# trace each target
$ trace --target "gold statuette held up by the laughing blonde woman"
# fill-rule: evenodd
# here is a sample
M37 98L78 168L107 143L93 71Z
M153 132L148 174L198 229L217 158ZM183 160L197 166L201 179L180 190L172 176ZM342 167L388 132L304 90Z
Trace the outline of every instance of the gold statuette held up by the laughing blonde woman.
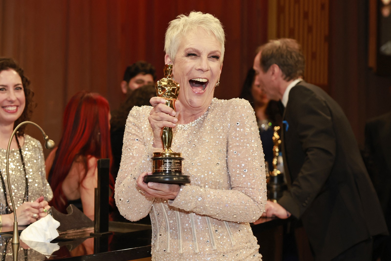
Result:
M157 81L156 96L163 97L166 105L175 110L174 102L178 98L179 83L171 77L172 65L166 64L164 67L164 78ZM163 151L154 152L152 157L152 175L144 177L144 182L160 182L171 184L190 183L190 176L183 175L182 162L184 158L181 153L173 152L172 128L163 127L161 130L161 142Z

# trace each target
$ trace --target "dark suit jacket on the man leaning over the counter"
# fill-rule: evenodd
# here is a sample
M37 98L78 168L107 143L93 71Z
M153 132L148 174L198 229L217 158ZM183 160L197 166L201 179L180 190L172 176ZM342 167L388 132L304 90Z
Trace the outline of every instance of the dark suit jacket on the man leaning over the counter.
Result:
M315 260L330 260L387 227L352 128L321 88L301 81L283 115L288 191L278 201L302 220Z

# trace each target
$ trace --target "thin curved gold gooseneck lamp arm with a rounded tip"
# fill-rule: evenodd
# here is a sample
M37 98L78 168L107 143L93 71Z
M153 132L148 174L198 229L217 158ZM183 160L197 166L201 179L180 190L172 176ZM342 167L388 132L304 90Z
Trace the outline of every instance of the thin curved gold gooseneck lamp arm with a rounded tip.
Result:
M23 121L20 124L18 124L18 126L16 126L15 130L11 134L11 137L9 138L8 147L7 147L6 169L7 169L7 184L8 184L9 197L11 198L12 208L13 208L13 212L14 212L14 232L13 232L13 237L12 237L14 260L18 259L19 233L18 233L18 221L16 220L16 209L15 209L15 204L14 204L14 197L12 196L12 193L11 193L11 183L9 181L9 168L8 168L9 149L11 148L11 142L12 142L12 139L13 139L16 131L18 131L19 127L24 124L32 124L32 125L36 126L41 131L43 138L45 139L45 148L52 149L52 148L54 148L54 145L55 145L54 141L49 139L49 137L48 137L48 135L46 135L45 131L43 131L42 128L39 127L38 124L31 122L31 121ZM15 250L16 250L16 255L15 255ZM15 259L15 256L16 256L16 259Z

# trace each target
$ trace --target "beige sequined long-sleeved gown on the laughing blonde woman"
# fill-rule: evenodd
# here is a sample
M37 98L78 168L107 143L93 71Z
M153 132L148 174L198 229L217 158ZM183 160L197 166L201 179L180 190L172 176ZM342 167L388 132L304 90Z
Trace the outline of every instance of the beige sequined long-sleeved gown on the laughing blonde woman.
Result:
M136 178L151 171L150 106L129 113L115 199L120 213L152 222L153 260L261 260L249 222L266 203L264 154L253 108L243 99L213 99L189 124L178 124L172 150L185 158L191 183L175 200L146 198Z

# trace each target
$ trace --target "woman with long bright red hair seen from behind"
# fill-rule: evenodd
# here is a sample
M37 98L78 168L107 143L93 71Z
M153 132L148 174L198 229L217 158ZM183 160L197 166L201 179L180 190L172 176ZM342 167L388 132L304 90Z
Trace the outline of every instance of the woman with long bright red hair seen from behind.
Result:
M94 219L97 160L112 161L110 118L108 101L97 93L78 92L66 105L61 141L45 162L53 190L49 204L58 211L66 213L72 203ZM111 188L113 184L110 175Z

